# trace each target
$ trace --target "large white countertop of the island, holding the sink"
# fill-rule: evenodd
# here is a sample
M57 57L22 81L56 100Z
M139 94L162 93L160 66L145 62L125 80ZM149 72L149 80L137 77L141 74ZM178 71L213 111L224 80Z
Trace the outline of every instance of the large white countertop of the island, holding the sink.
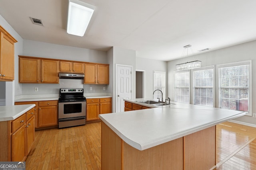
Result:
M175 104L99 117L126 143L144 150L245 115L243 111Z

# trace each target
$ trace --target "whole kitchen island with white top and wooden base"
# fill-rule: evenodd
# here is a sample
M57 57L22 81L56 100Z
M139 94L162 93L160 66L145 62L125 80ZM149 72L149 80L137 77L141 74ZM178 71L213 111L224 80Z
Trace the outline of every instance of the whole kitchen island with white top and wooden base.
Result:
M179 103L100 115L102 170L214 168L216 125L242 115Z

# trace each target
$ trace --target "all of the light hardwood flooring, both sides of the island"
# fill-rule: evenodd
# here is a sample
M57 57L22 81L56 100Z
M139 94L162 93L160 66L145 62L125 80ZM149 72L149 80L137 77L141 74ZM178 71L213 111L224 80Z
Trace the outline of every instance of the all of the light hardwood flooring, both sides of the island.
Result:
M36 131L27 170L100 170L101 123ZM216 127L215 170L256 170L256 128L225 122Z

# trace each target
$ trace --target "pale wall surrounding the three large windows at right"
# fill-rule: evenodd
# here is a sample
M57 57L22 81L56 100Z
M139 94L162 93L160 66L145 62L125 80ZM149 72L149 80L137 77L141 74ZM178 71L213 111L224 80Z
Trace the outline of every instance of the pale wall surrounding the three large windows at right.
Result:
M195 58L196 57L196 58ZM198 59L202 61L201 66L211 66L216 64L225 64L238 61L252 60L252 113L256 113L256 41L235 45L232 47L226 47L223 49L210 51L208 53L202 53L182 59L182 61L194 61ZM174 101L174 71L176 70L176 64L180 60L169 61L168 64L168 96ZM182 63L184 63L182 62ZM215 90L217 92L217 89ZM236 121L242 121L245 123L251 123L256 125L256 118L251 116L242 116Z

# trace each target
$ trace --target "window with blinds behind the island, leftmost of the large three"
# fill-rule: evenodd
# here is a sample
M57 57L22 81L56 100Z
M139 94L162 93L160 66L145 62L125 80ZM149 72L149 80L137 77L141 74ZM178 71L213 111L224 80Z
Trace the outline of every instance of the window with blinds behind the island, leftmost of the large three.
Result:
M175 102L182 102L182 103L190 103L190 78L189 78L189 70L181 71L181 72L175 72L175 87L174 87L174 93L175 93Z

